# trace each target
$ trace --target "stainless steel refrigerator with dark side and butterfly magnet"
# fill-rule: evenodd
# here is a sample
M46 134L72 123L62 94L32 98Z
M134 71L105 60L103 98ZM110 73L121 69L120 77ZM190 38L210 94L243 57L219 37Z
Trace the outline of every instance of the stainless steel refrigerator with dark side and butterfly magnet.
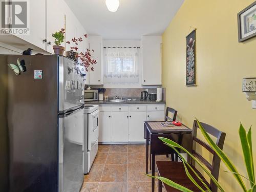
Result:
M0 191L80 190L83 74L63 56L0 55Z

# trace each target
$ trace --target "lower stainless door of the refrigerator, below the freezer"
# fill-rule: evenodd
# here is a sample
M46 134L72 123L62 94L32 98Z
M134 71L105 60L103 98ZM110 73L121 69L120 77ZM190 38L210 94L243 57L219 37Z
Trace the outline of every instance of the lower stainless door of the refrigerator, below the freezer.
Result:
M83 109L59 117L59 192L80 191L83 182Z

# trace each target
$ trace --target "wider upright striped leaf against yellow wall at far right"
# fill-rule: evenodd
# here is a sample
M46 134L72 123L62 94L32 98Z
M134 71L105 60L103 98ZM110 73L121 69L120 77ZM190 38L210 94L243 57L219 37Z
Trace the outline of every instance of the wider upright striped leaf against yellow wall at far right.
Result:
M248 133L248 135L250 137L251 133ZM250 141L247 140L246 131L242 124L240 124L239 136L240 136L241 145L242 145L242 149L243 149L244 162L245 162L247 174L249 176L249 180L254 183L255 179L254 179L254 169L253 169L253 163L252 163L253 157L252 157L252 153L251 153L251 147L249 144L249 142L251 142L251 138L249 139ZM252 183L250 183L250 184L252 187L253 184Z

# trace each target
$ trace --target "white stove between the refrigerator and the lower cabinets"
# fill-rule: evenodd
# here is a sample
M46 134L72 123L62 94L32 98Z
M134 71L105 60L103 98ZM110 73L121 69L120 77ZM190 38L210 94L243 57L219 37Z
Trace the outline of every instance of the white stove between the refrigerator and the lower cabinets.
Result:
M88 174L98 152L99 106L84 105L83 170Z

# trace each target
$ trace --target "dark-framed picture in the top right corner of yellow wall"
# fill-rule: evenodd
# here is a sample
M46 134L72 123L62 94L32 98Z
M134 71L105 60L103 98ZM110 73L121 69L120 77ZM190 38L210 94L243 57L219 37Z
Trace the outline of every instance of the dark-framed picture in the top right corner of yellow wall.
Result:
M256 1L238 13L238 41L256 36Z

